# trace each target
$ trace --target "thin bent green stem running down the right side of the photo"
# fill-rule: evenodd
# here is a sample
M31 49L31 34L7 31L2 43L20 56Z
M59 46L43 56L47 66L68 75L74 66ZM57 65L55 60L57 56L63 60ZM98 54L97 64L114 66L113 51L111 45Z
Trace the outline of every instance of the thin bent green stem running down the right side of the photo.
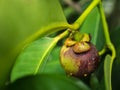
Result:
M103 30L104 30L104 35L105 35L105 39L106 39L107 48L110 49L111 52L112 52L112 58L111 58L111 61L110 61L110 73L109 73L110 74L110 84L109 84L109 86L110 86L110 90L112 90L112 83L111 83L112 64L113 64L113 61L116 57L116 51L115 51L114 45L112 44L112 42L110 40L108 25L107 25L107 21L106 21L106 18L105 18L104 11L103 11L102 2L99 3L99 11L100 11L101 19L102 19ZM104 52L104 49L103 49L102 52ZM107 77L107 76L105 76L105 77ZM106 80L105 80L105 83L107 84ZM109 88L106 87L106 90L108 90L108 89Z

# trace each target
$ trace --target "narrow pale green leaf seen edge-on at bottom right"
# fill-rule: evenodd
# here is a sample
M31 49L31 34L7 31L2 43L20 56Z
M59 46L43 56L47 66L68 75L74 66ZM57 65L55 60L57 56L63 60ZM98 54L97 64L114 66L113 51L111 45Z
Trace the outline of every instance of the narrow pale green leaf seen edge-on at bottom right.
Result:
M105 79L105 88L106 90L112 90L111 84L111 56L107 55L104 61L104 79Z

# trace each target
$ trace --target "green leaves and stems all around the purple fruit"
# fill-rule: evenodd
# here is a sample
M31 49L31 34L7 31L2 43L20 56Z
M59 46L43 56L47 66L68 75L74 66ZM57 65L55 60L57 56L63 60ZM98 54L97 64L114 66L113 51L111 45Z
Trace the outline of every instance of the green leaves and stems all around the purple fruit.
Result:
M61 4L64 2L60 3L58 0L0 1L1 89L119 89L116 81L120 79L120 30L118 28L111 31L109 37L101 0L89 0L85 3L80 17L71 7L63 5L62 9ZM74 17L74 12L77 13L77 19L74 22L67 20ZM89 33L91 42L100 52L98 69L87 77L67 76L60 64L60 49L64 39L70 34L70 29ZM117 56L113 62L115 55Z

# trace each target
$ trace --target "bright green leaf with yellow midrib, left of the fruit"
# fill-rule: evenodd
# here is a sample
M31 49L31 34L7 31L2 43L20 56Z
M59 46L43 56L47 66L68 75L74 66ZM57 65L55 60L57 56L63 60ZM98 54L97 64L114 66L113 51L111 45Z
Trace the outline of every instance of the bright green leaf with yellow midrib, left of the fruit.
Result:
M56 38L43 37L32 42L18 56L11 74L11 81L26 75L43 72L50 51L56 45Z

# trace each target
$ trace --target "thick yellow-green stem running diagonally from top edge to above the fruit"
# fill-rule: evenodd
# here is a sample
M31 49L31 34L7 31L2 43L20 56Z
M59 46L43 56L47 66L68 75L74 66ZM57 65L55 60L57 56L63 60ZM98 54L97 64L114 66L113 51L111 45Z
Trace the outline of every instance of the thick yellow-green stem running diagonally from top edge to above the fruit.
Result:
M73 27L79 29L82 23L85 21L88 14L92 11L94 7L96 7L101 0L93 0L92 3L88 6L88 8L82 13L82 15L74 22Z

